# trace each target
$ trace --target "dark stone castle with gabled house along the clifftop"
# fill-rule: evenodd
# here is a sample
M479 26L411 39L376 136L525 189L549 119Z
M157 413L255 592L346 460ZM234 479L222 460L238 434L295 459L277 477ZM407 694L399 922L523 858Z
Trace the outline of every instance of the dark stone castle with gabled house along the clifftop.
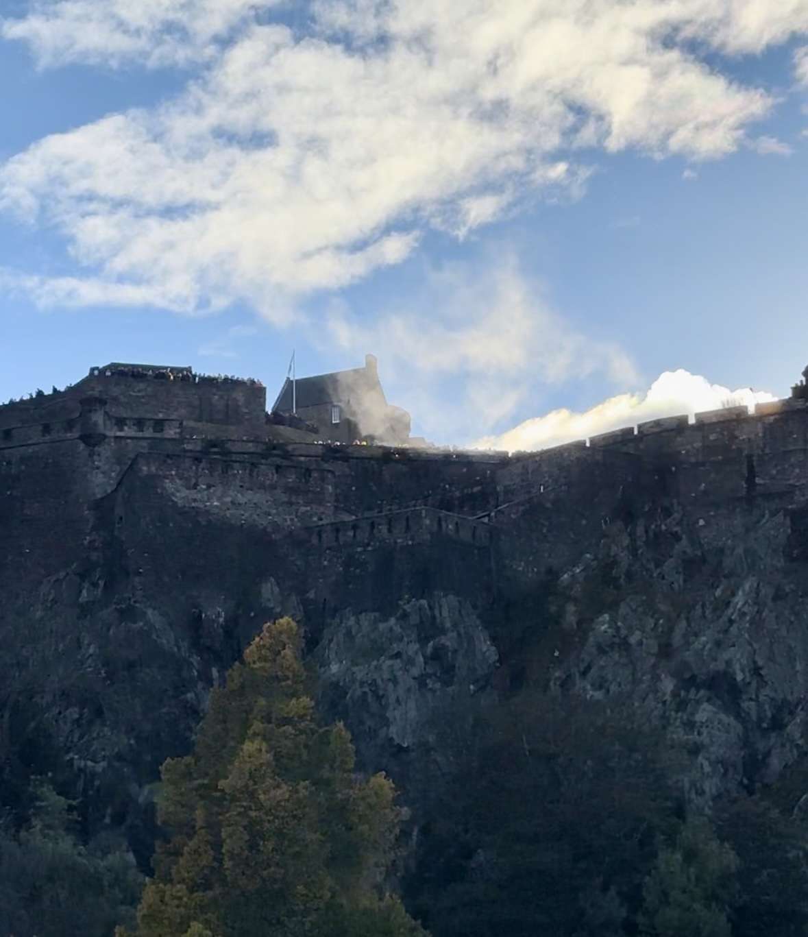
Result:
M409 414L387 405L372 356L365 368L298 383L295 419L288 380L267 414L260 381L120 363L91 368L63 392L0 407L6 550L45 518L56 523L54 502L63 505L58 522L74 523L82 542L99 498L122 497L133 479L150 478L200 516L342 551L385 538L448 537L477 550L496 542L507 554L519 519L538 511L534 553L507 573L529 575L557 558L564 533L554 517L573 504L585 526L600 525L610 514L596 516L599 503L626 510L653 491L697 509L707 526L712 506L727 499L801 505L808 483L808 400L799 386L791 399L752 414L736 407L696 413L692 422L669 417L509 455L340 444L363 435L363 408L375 412L377 439L408 439ZM329 424L344 439L323 441ZM561 502L564 511L549 511ZM11 565L0 553L0 574ZM45 563L39 573L48 572Z

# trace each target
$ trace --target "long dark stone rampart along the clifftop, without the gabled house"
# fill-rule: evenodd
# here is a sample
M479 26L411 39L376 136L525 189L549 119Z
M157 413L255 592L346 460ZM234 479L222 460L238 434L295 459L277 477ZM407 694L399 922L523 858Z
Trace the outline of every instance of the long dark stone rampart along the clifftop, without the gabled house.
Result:
M388 522L406 518L405 532L431 538L450 515L467 519L456 523L476 543L479 525L506 525L531 503L549 510L578 499L585 511L587 492L606 480L688 503L790 497L806 483L802 399L666 417L511 455L289 442L273 438L264 407L257 381L93 368L63 392L0 407L0 481L9 497L36 498L41 469L42 481L69 476L71 491L99 498L139 460L139 472L195 510L276 530L336 523L312 534L323 546L332 535L353 540L354 527L359 543L381 540Z

